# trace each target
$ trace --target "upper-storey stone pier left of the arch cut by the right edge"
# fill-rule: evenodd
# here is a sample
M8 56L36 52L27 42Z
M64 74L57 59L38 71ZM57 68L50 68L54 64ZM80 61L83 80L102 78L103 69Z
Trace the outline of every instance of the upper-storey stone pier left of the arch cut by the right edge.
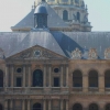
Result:
M105 92L105 75L99 75L99 92Z

